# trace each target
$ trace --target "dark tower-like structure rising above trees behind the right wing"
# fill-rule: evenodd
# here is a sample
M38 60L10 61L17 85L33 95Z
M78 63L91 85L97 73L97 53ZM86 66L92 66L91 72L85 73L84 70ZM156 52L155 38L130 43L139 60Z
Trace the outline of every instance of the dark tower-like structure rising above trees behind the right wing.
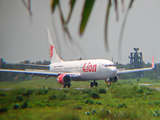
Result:
M129 59L130 59L130 68L142 68L143 67L143 54L142 52L138 52L139 48L133 48L135 52L131 52ZM143 74L142 72L137 73L137 77L141 77Z

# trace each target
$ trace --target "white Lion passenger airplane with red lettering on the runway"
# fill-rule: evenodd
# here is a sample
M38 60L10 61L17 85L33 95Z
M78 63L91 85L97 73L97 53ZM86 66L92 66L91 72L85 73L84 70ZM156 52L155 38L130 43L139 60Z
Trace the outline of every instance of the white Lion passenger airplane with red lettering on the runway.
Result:
M49 42L49 55L50 65L40 65L41 67L48 67L49 70L38 69L0 69L0 72L15 72L31 74L31 76L39 75L45 76L45 80L49 77L57 77L57 81L63 84L63 87L68 88L71 86L72 81L89 81L90 87L98 86L97 80L105 80L110 85L111 82L118 80L118 75L125 73L141 72L153 70L155 68L154 56L152 58L152 66L148 68L119 70L115 64L106 59L88 59L88 60L75 60L75 61L63 61L56 52L55 45L53 43L50 29L47 28L47 38ZM35 65L39 66L39 65Z

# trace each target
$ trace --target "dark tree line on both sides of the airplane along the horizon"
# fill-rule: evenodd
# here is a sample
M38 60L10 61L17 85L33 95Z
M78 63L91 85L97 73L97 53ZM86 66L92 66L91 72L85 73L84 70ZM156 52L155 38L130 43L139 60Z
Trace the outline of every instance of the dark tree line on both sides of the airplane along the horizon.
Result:
M29 64L29 65L27 65ZM48 69L45 67L40 66L32 66L33 65L49 65L50 61L44 60L44 61L36 61L36 62L30 62L30 60L25 60L20 63L7 63L3 60L3 58L0 59L0 68L1 69ZM130 69L130 64L120 64L116 62L116 66L118 69ZM150 67L151 63L143 63L143 67ZM145 71L141 73L128 73L128 74L122 74L119 76L120 79L128 79L128 78L138 78L138 77L145 77L149 79L158 79L160 76L160 63L156 64L156 68L153 71ZM30 75L21 74L21 73L9 73L9 72L0 72L0 81L24 81L24 80L31 80Z

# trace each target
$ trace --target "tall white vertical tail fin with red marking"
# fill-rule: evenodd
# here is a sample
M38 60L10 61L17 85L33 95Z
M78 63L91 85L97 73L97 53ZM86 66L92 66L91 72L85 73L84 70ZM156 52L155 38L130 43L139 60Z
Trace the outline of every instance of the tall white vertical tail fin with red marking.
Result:
M49 28L47 28L47 37L49 42L49 55L50 55L51 64L56 62L63 62L63 60L58 56L56 52L56 48L53 43L52 35Z

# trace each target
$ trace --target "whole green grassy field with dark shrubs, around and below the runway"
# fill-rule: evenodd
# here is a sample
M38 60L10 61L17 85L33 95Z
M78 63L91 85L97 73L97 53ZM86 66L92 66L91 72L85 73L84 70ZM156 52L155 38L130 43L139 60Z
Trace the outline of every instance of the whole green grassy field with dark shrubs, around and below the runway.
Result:
M71 88L53 79L35 78L22 82L1 82L0 88L16 88L0 91L0 120L103 120L103 119L160 119L160 92L138 83L154 83L159 80L142 78L119 80L108 87L98 81L99 87L89 88L90 82L72 82ZM35 89L43 88L45 89ZM73 88L89 88L76 90Z

